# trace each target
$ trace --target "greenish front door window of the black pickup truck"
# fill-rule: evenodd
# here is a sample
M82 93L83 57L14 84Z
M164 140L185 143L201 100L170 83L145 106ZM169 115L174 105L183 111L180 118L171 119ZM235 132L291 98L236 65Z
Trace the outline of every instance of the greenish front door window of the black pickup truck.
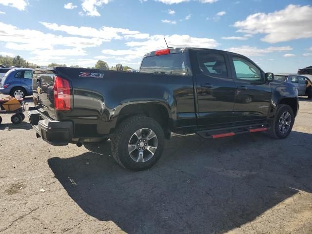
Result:
M250 61L233 57L236 78L249 81L263 81L261 71Z

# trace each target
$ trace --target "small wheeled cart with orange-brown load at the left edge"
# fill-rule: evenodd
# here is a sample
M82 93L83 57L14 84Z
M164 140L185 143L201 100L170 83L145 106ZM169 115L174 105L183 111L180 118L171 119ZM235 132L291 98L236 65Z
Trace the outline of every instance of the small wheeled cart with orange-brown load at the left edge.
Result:
M14 124L19 124L25 119L23 112L26 109L26 103L23 98L0 98L0 115L14 114L11 117L11 122ZM2 122L2 117L0 116L0 124Z

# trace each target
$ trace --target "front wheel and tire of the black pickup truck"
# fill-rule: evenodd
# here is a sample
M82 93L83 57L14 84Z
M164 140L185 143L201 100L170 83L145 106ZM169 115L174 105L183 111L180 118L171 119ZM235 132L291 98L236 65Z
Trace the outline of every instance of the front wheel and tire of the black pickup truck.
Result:
M288 113L289 116L286 113ZM293 124L294 115L292 108L289 105L280 104L277 106L275 117L270 121L268 134L275 139L284 139L292 132Z

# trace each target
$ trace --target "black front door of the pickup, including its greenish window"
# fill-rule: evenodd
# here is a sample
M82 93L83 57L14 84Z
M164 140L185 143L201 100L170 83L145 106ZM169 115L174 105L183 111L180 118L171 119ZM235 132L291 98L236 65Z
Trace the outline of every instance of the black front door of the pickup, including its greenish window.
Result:
M230 55L235 81L234 120L252 123L265 120L271 106L272 90L265 74L250 59Z

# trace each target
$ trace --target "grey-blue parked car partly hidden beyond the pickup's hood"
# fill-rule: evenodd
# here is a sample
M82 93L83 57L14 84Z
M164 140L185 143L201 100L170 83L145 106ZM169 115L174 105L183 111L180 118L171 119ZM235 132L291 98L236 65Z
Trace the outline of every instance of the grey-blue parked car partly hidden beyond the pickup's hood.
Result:
M307 83L312 84L309 77L294 75L294 74L275 74L275 79L292 83L298 89L298 96L308 96L312 98L312 89L307 89Z

